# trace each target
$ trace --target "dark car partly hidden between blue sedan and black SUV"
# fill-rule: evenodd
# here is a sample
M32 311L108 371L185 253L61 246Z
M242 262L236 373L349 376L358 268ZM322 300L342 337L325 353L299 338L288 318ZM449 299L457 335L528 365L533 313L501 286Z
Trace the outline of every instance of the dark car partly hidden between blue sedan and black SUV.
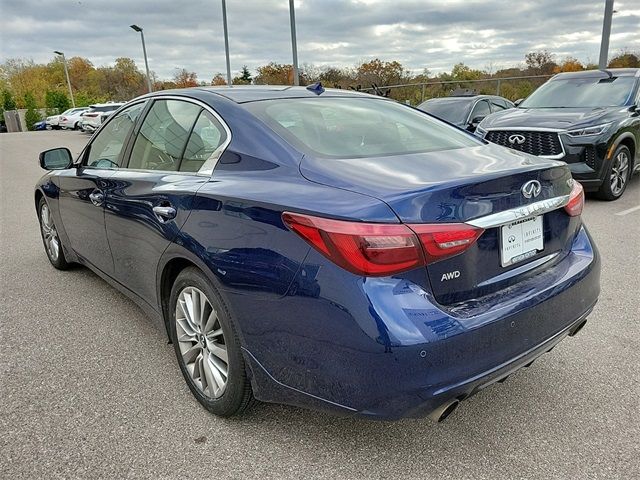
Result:
M475 131L487 115L514 107L506 98L475 94L431 98L418 105L420 110L470 132Z

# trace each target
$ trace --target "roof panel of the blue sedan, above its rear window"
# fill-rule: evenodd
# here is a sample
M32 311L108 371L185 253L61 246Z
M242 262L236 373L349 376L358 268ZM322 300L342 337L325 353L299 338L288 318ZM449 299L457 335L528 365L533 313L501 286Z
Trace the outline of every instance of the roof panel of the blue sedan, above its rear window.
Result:
M197 90L215 93L236 103L257 102L282 98L314 98L318 95L307 87L291 85L234 85L232 87L196 87ZM165 91L166 92L166 91ZM325 88L322 97L375 97L368 93L340 88Z

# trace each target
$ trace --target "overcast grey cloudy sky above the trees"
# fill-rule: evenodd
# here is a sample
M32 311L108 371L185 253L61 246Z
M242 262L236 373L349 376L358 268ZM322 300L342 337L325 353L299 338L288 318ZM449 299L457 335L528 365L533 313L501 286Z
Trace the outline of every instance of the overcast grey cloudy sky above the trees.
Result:
M597 63L604 0L296 0L300 64L353 66L374 57L416 72L457 62L493 69L548 49ZM225 71L220 0L0 0L1 61L48 62L53 50L94 65L132 57L160 78L175 68ZM640 50L640 0L617 0L611 49ZM231 69L291 63L288 0L227 0Z

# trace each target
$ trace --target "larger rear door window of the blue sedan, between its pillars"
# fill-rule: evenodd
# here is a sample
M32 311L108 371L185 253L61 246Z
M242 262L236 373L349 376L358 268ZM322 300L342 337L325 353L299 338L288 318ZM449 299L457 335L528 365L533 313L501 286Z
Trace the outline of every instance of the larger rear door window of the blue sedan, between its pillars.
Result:
M177 171L201 110L180 100L154 102L136 137L128 168Z

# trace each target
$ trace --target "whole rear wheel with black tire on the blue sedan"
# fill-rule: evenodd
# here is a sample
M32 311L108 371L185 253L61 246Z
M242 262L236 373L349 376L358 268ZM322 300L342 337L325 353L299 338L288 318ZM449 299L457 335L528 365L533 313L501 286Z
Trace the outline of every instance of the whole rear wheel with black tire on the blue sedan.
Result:
M188 267L176 278L169 305L171 340L191 393L220 417L242 413L253 393L237 330L220 294L200 270Z

